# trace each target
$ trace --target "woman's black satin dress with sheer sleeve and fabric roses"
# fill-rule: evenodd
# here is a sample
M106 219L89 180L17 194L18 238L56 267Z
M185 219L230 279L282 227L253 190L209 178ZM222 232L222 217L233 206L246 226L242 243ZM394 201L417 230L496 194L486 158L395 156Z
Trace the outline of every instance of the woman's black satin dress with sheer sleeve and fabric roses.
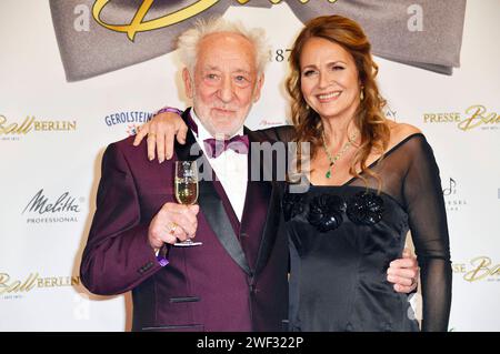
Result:
M291 331L419 331L408 295L387 281L411 231L423 297L422 331L447 331L451 266L439 170L426 138L412 134L339 186L286 186ZM332 170L334 173L334 168Z

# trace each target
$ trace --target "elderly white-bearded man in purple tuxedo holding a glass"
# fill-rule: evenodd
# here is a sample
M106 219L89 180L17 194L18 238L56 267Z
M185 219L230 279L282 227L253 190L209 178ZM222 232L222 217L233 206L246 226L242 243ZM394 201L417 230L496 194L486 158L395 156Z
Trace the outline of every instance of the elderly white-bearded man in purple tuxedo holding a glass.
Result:
M161 164L131 138L104 153L81 279L97 294L132 290L134 331L287 328L288 242L279 227L279 189L248 178L251 169L263 169L252 166L248 150L222 144L218 151L214 139L244 148L287 140L286 128L243 128L263 83L262 38L221 19L184 32L182 77L193 102L182 115L186 143ZM149 144L154 140L150 134ZM199 182L199 205L174 202L178 160L198 160L217 174ZM201 245L176 246L194 234Z

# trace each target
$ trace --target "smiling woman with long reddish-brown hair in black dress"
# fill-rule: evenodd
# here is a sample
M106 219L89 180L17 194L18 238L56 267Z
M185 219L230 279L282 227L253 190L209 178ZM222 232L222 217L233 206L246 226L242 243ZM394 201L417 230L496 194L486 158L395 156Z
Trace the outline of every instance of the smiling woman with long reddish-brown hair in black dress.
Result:
M407 296L386 279L411 230L422 330L447 331L451 267L439 170L420 131L383 117L367 37L349 19L317 18L290 63L296 140L311 144L310 190L283 189L291 330L418 331Z

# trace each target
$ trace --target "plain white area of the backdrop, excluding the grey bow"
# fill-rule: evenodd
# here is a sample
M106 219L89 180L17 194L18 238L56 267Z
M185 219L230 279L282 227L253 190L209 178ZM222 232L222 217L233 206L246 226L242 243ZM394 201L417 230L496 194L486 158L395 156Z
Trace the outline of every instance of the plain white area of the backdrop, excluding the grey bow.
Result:
M377 58L391 114L423 130L438 159L443 190L450 188L450 179L454 182L446 191L454 267L453 331L500 330L500 119L463 131L460 122L426 122L424 114L458 112L463 121L473 105L500 114L499 14L496 0L468 2L461 67L451 77ZM290 48L302 26L284 3L271 9L231 7L224 17L263 27L274 58L276 50ZM76 122L73 130L32 129L26 134L0 130L0 331L130 328L130 297L88 294L78 284L79 262L94 211L103 149L133 128L108 127L106 117L152 112L166 104L184 107L178 94L176 53L67 82L49 6L34 0L1 1L0 48L3 130L21 125L27 117L60 127ZM270 63L250 128L284 122L286 72L286 61ZM24 211L40 190L51 203L68 193L73 210ZM477 274L486 276L470 280L478 257L490 262ZM24 284L30 279L32 286Z

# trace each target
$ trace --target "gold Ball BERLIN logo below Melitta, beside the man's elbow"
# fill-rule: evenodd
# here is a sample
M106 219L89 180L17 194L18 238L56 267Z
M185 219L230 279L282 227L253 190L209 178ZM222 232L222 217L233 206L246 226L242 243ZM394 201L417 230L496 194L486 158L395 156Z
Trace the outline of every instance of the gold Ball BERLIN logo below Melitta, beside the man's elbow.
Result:
M22 299L24 294L37 289L53 289L80 285L80 276L40 276L30 273L16 279L9 273L0 271L0 300Z

